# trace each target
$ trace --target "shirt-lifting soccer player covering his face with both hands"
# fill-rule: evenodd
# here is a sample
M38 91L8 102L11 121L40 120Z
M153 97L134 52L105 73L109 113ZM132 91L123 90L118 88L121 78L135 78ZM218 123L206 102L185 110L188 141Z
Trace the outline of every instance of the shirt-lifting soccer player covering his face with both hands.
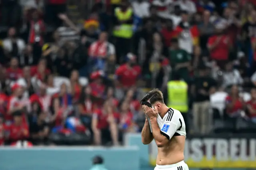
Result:
M180 111L164 104L163 94L158 89L149 91L141 100L146 122L141 132L142 143L154 139L158 146L154 170L188 170L184 162L186 125Z

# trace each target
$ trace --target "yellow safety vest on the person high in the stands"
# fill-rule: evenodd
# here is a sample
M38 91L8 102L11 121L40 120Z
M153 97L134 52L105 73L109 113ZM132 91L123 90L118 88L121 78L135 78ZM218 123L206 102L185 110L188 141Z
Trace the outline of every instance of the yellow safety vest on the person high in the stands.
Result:
M122 12L120 8L116 8L115 15L119 21L128 20L132 17L132 8L129 8L126 12ZM113 35L120 38L131 38L132 24L121 24L120 26L116 26Z

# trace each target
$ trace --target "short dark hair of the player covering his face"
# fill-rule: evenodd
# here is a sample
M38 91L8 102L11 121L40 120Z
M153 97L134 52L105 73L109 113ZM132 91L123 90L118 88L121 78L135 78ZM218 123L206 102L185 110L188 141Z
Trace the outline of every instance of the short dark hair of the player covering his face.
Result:
M140 101L140 103L142 102L146 102L149 101L149 103L151 105L153 105L154 103L156 103L157 101L164 103L164 97L163 97L163 93L159 90L159 89L153 89L151 91L149 91Z

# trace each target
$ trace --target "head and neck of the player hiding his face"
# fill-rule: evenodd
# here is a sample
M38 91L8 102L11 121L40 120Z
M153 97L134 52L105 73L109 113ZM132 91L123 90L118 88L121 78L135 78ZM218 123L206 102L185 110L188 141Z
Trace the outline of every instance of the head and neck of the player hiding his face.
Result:
M145 102L150 103L155 110L157 109L159 115L165 114L169 109L164 104L163 93L159 89L149 91L140 101L142 105Z

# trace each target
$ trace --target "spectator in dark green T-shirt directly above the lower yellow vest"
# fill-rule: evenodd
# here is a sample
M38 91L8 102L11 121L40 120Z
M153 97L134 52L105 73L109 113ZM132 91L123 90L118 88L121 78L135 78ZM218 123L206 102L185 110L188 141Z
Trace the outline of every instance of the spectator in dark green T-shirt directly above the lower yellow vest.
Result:
M184 81L189 81L188 67L190 66L191 56L186 50L179 48L178 39L176 38L171 40L169 60L172 67L170 79L172 80L173 75L178 73Z

